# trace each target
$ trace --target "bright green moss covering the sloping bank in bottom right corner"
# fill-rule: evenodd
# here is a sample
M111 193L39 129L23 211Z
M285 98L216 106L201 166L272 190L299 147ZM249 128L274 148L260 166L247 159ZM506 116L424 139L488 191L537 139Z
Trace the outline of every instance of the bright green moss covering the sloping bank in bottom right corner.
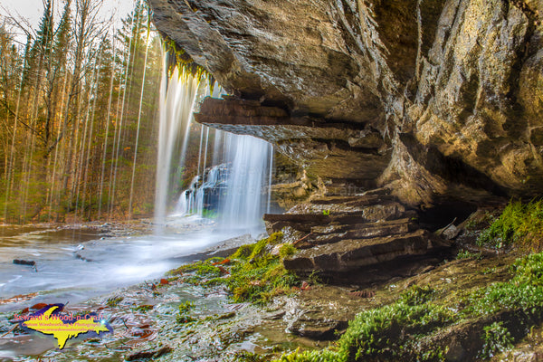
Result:
M442 361L445 359L446 347L433 346L432 350L428 350L419 341L425 336L433 336L433 333L445 326L502 310L522 310L536 317L532 319L534 322L543 318L543 253L517 260L511 266L510 281L469 292L461 302L460 311L456 311L453 306L439 305L436 300L437 293L432 288L415 285L403 292L394 303L359 313L334 346L320 351L296 351L279 360ZM507 350L513 343L510 332L500 323L483 326L481 336L481 358Z

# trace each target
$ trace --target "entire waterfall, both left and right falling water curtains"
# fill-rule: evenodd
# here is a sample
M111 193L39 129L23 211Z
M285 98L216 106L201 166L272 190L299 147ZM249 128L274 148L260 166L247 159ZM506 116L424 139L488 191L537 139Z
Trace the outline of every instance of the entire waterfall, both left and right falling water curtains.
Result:
M159 150L157 164L157 197L155 217L164 224L167 216L167 198L175 190L170 186L173 155L179 158L178 169L185 169L189 145L192 112L195 100L212 95L218 98L222 90L209 84L201 87L199 81L183 74L180 81L177 71L167 83L163 76L160 99ZM271 144L252 136L235 135L202 126L196 149L197 174L186 190L182 191L171 217L191 217L191 221L214 219L222 230L237 233L262 231L262 214L269 210L273 152ZM195 137L195 135L193 135ZM210 152L213 148L213 155ZM208 159L212 158L212 160Z

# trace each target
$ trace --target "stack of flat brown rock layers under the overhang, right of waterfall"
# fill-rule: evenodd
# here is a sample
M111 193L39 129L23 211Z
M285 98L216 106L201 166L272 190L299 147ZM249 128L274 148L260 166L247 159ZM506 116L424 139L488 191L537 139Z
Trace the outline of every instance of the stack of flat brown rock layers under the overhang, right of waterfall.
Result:
M319 196L286 214L266 214L268 233L300 249L283 260L288 270L364 285L424 270L441 262L451 243L422 229L417 214L388 189L362 195Z

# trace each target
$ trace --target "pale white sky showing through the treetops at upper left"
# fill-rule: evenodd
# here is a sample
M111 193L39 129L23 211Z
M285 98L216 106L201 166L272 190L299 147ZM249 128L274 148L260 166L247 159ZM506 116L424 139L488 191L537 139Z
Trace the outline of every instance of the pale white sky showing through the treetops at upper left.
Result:
M73 2L72 2L73 3ZM135 4L134 0L103 0L103 7L101 13L104 18L109 17L110 14L116 14L118 19L123 18L126 14L132 10ZM55 18L60 18L60 12L62 10L63 1L54 0ZM43 14L43 2L42 0L1 0L0 2L0 14L12 14L14 16L20 15L24 19L28 20L35 29L40 23L40 18ZM23 37L23 39L25 39Z

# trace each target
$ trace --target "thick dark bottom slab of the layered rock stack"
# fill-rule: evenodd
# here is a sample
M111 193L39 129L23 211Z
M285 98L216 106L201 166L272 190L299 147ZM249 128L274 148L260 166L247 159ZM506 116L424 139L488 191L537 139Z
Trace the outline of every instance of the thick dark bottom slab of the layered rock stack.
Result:
M287 270L300 273L357 271L360 268L390 262L405 256L423 255L446 242L425 230L371 239L345 239L338 243L304 249L283 263Z

